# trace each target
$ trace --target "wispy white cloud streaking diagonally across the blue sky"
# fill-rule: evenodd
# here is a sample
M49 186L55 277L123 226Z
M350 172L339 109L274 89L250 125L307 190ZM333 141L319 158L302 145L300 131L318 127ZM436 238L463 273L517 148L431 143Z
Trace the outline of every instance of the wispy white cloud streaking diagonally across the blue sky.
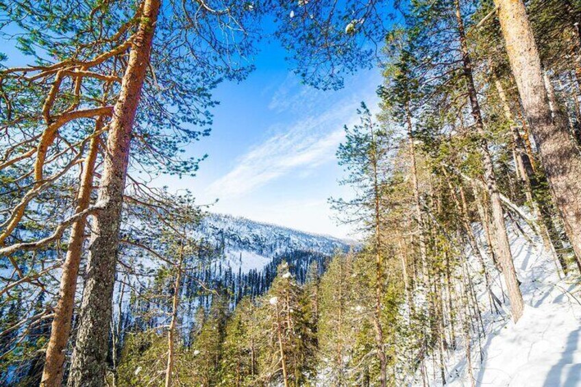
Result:
M297 86L286 79L275 91L269 108L295 110L302 105L306 118L279 127L270 138L249 149L230 172L210 185L211 195L221 199L240 197L273 179L289 173L308 176L317 166L334 161L336 149L344 138L343 125L352 125L357 119L360 101L376 98L375 84L338 101L333 101L328 94L320 95L323 92ZM316 94L319 102L308 103L313 96L305 90Z

